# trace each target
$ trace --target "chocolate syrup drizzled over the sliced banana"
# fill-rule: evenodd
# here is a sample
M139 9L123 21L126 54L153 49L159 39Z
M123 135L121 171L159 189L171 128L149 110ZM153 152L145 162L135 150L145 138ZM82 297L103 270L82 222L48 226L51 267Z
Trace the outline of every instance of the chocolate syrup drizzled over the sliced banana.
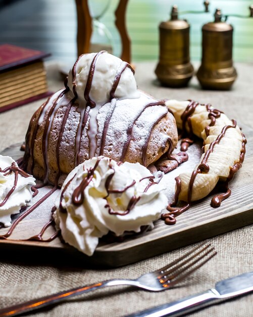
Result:
M183 114L181 115L181 119L183 122L183 132L186 131L185 124L187 122L189 130L190 130L190 132L189 132L190 135L193 134L192 126L191 126L191 122L190 122L190 116L194 113L197 105L198 105L198 103L191 101L189 103L189 105L186 107ZM204 106L206 106L206 109L209 112L208 117L211 120L210 124L205 128L206 135L209 136L210 135L210 127L215 125L216 118L220 117L221 113L223 113L223 112L219 111L217 109L211 109L210 104L207 104ZM174 202L172 204L168 205L167 210L169 212L164 213L161 217L163 220L165 220L166 224L169 224L169 225L175 224L176 223L175 217L179 216L184 211L186 211L190 208L194 180L195 180L197 174L209 172L209 165L208 165L209 156L214 151L215 145L220 143L221 139L225 136L226 131L230 128L236 128L236 121L235 120L232 120L232 125L227 125L227 126L223 127L221 133L217 136L216 140L214 140L210 144L208 150L206 151L206 153L203 157L203 160L201 160L198 167L192 172L190 182L189 182L189 187L188 187L187 204L185 204L182 207L176 206L178 203L178 198L179 198L179 194L181 191L181 180L179 177L175 178L176 192L174 195ZM245 156L245 144L246 144L246 138L245 138L244 134L242 134L242 148L241 148L239 162L235 163L235 165L232 168L230 168L229 176L228 176L226 182L224 183L224 192L213 197L213 199L211 201L212 207L215 207L215 208L219 207L221 205L221 202L230 196L231 190L228 188L228 185L229 185L229 182L233 179L234 174L241 168L241 165L243 163L244 156Z

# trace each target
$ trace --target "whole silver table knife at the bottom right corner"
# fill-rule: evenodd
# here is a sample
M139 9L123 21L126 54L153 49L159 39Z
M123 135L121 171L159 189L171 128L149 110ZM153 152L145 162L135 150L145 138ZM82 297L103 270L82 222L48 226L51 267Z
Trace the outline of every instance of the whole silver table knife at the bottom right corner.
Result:
M181 316L194 310L253 291L253 272L234 276L215 284L215 288L177 301L143 310L126 317Z

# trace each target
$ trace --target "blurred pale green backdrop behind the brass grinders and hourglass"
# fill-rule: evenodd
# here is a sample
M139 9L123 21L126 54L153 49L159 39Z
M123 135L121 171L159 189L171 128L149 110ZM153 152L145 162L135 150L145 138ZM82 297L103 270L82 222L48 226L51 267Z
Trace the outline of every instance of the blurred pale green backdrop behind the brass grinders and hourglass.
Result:
M91 9L99 11L98 3L104 0L90 1ZM127 10L127 28L132 41L132 58L134 61L157 60L159 55L159 29L161 21L170 18L171 7L176 4L180 11L204 11L203 0L129 0ZM111 10L117 6L118 1L112 0ZM95 6L95 4L97 4ZM241 14L249 15L248 7L251 4L246 0L210 0L210 13L184 14L180 18L187 19L190 24L190 55L192 60L201 59L201 27L214 20L216 8L220 8L225 15ZM101 8L101 7L100 7ZM113 26L110 10L101 19L113 34L116 54L119 54L119 38ZM253 18L241 19L228 18L228 23L234 26L234 50L235 61L253 62Z

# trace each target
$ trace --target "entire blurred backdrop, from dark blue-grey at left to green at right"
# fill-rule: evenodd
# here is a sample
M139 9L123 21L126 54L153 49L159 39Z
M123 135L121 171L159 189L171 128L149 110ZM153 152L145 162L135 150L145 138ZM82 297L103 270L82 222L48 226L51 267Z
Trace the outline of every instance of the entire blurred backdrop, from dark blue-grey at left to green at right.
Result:
M108 28L114 54L119 56L120 38L114 26L114 11L118 1L89 0L89 6L92 15L96 16L109 3L108 10L100 22ZM161 21L169 19L174 4L178 5L179 11L204 11L203 0L129 0L127 28L132 41L133 61L158 60L158 26ZM248 0L210 0L210 13L182 15L191 26L191 60L201 59L201 26L213 21L216 8L222 9L224 14L248 15L250 4ZM228 22L234 26L233 59L253 62L253 18L231 17ZM10 43L50 52L52 59L70 64L76 59L74 0L0 0L0 27L0 44ZM97 42L96 37L100 37L99 32L94 32L94 42Z

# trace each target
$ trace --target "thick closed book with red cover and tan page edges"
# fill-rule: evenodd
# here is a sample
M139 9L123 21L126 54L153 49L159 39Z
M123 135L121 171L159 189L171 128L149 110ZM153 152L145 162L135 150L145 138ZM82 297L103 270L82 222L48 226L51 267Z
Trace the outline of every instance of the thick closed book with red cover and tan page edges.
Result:
M46 97L46 72L40 51L0 45L0 112Z

